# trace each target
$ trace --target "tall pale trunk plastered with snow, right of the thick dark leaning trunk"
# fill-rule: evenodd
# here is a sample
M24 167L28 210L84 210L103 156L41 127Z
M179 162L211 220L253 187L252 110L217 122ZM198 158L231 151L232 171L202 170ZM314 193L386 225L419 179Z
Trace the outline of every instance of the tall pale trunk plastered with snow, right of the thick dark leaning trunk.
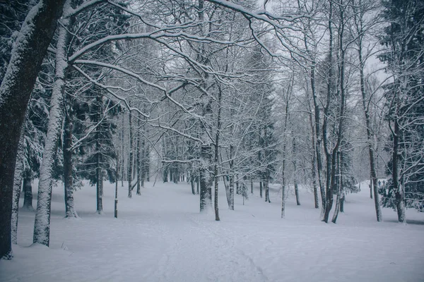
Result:
M65 8L69 9L69 0ZM42 154L40 167L40 181L38 183L37 213L35 214L33 243L49 246L50 240L50 207L52 204L53 164L57 154L57 139L61 130L61 121L64 108L64 90L66 84L66 51L69 44L69 18L62 18L59 25L59 36L56 47L56 71L50 100L49 123L47 137Z

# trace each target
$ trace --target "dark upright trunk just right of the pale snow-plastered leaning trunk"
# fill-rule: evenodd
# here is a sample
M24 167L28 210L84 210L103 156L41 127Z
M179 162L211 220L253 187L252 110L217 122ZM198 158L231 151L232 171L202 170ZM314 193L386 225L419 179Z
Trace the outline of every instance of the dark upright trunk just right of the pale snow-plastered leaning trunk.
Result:
M72 178L72 117L71 109L65 116L65 132L64 132L64 189L65 189L65 217L78 218L75 211L75 204L73 203L73 178Z

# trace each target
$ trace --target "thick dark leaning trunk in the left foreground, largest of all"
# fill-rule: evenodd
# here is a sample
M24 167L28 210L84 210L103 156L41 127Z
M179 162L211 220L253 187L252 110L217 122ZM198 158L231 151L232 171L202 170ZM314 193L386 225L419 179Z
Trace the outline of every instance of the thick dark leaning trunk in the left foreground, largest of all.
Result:
M33 7L22 25L0 86L0 258L11 259L11 207L20 128L64 0Z

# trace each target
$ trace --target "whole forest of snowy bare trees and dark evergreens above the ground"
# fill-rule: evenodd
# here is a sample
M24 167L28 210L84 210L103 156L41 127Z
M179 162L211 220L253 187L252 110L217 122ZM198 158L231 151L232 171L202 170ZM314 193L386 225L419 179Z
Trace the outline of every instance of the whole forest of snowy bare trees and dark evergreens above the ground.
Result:
M282 219L292 191L329 224L360 190L374 221L424 212L423 1L11 0L0 14L4 259L20 197L49 246L52 190L78 218L85 181L97 214L114 183L115 217L118 189L135 200L153 182L188 183L215 221L256 185L263 205L278 187Z

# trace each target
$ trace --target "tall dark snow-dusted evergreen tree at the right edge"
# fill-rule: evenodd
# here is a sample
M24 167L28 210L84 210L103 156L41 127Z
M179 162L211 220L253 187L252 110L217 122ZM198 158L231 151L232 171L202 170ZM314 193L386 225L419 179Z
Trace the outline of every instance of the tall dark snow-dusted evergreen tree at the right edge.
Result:
M391 132L391 178L386 187L394 195L399 222L405 222L406 202L422 209L424 199L424 4L391 0L383 1L383 6L382 16L390 25L380 37L387 49L379 57L393 78L385 87Z

